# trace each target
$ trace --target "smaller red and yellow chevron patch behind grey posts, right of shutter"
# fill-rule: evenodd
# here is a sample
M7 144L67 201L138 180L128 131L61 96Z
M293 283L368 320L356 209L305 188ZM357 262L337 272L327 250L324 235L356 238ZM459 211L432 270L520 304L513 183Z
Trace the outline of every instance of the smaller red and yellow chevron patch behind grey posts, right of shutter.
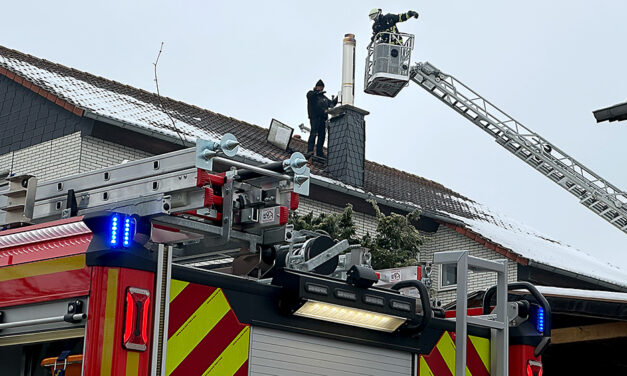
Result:
M454 333L444 332L429 355L420 356L420 376L453 376L455 374ZM466 375L490 375L490 340L468 336Z

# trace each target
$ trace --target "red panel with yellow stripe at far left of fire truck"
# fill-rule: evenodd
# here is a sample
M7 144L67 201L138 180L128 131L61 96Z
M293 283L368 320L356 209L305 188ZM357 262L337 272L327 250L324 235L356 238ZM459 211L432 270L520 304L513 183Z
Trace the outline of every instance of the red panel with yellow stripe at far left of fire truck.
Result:
M87 295L90 270L84 254L0 267L0 307Z

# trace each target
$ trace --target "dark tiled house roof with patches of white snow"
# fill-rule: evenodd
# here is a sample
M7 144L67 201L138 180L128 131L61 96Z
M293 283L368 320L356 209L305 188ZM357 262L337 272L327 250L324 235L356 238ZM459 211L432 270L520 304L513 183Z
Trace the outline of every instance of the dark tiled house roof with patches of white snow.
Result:
M1 46L0 74L79 116L171 140L177 140L180 132L190 143L198 137L217 139L232 133L241 144L243 157L258 162L289 157L286 151L266 141L266 128ZM304 152L307 146L294 138L290 147ZM463 224L532 263L627 290L627 272L620 268L553 240L432 180L373 161L365 163L363 187L335 180L318 164L312 165L311 170L314 184L342 187L349 193L396 203L407 210L419 209L426 216ZM516 257L509 258L520 262Z

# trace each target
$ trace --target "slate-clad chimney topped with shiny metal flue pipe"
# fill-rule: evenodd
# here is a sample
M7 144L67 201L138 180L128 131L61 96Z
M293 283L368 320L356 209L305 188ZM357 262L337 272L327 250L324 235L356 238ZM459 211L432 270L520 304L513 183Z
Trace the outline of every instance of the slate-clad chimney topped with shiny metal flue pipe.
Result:
M326 172L343 183L363 187L368 111L353 105L355 95L355 36L344 37L342 105L329 110Z

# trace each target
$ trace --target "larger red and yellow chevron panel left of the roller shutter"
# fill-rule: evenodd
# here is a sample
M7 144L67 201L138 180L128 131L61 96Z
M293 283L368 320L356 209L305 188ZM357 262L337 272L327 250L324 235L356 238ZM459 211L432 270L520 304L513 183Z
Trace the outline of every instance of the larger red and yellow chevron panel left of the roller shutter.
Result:
M248 375L249 343L222 289L172 280L166 375Z

